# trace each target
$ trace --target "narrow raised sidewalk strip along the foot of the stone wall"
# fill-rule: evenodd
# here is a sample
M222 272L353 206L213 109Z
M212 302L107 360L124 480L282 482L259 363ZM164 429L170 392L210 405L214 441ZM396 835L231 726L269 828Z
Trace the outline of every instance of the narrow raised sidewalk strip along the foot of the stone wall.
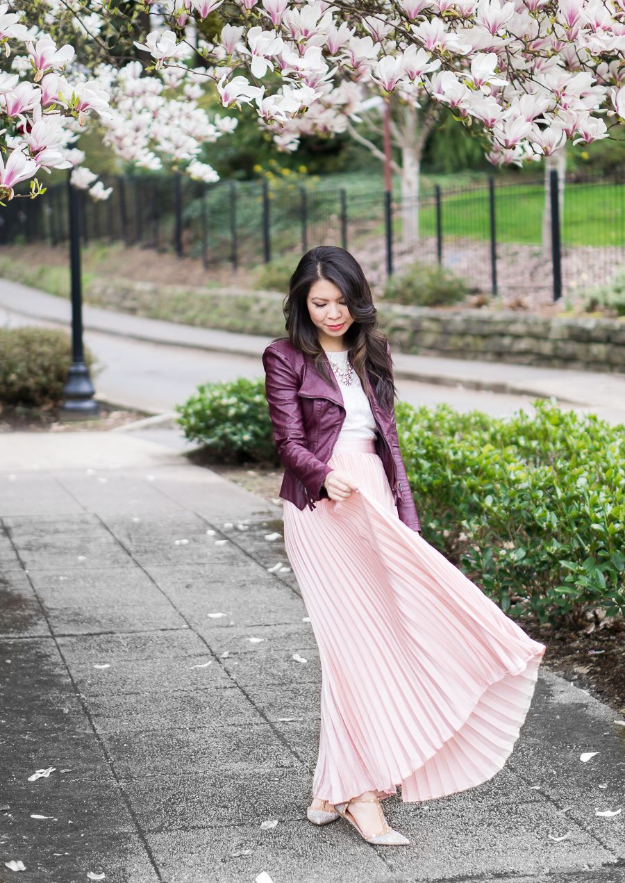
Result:
M70 304L19 283L0 280L0 307L33 319L70 324ZM142 319L94 306L84 307L86 328L139 341L169 344L202 351L260 357L269 337L233 334L213 328L194 328L155 319ZM625 423L625 375L555 368L463 361L394 352L398 379L484 389L519 396L555 397L559 402L607 411Z

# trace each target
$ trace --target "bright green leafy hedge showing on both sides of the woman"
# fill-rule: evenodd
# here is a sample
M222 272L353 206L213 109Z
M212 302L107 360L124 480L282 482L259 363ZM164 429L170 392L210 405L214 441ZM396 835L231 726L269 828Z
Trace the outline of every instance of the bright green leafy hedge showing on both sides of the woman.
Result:
M621 620L625 426L532 404L535 416L510 419L396 405L425 540L510 616ZM177 410L213 456L278 463L264 381L205 384Z

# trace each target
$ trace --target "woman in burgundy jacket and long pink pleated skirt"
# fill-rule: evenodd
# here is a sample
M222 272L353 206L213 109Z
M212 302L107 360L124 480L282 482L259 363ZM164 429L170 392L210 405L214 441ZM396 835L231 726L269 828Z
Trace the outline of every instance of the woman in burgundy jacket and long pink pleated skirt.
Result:
M263 353L285 465L284 544L320 653L320 745L308 819L410 841L380 799L431 800L501 769L545 645L420 535L395 427L388 342L358 262L299 261L288 337Z

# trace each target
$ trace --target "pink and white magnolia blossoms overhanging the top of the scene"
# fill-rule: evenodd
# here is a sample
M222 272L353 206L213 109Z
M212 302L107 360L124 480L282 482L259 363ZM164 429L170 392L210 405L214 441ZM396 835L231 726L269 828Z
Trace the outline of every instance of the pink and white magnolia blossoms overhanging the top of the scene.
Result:
M82 54L56 34L61 11ZM207 90L251 105L283 150L346 131L372 88L408 109L431 102L498 165L609 137L625 118L625 0L31 0L0 4L0 43L5 199L71 164L93 190L72 144L94 117L124 160L214 180L203 146L236 118L209 118Z

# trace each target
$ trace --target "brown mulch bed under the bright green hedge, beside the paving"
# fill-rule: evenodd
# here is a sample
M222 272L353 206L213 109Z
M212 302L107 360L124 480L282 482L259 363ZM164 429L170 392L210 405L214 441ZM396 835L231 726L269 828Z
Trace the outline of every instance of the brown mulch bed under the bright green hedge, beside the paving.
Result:
M253 463L238 466L209 463L200 451L193 453L193 460L246 490L279 502L282 472ZM545 668L613 708L615 716L625 717L625 630L601 628L600 624L590 633L588 627L586 630L554 629L539 623L535 615L527 615L518 623L531 638L546 645ZM622 624L625 629L625 623Z

